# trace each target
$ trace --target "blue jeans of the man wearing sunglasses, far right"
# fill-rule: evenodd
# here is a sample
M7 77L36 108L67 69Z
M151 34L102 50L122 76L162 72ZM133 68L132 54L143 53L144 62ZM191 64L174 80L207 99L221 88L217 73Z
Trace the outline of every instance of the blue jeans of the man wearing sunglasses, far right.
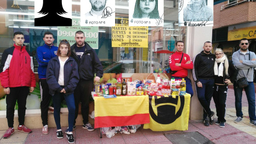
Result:
M244 89L247 100L248 100L248 105L249 105L248 111L249 111L250 121L256 121L254 84L253 82L248 82L248 84L249 85L247 87L240 88L238 87L237 82L234 82L234 91L235 91L235 98L236 98L236 116L243 117L242 95L243 95L243 89Z

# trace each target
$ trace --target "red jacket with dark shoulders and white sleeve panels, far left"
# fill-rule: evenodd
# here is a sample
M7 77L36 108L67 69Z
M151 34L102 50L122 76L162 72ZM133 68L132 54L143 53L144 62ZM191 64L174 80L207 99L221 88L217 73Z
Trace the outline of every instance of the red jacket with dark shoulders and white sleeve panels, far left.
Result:
M0 65L0 79L3 87L36 87L33 57L26 46L13 45L4 50Z

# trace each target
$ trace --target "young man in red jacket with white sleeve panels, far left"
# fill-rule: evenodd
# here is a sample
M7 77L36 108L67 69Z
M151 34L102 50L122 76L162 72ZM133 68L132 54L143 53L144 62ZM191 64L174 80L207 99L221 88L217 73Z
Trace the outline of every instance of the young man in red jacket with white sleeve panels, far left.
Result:
M32 132L24 125L24 121L28 93L33 92L36 87L33 55L23 45L25 41L24 35L17 31L13 37L15 43L9 49L4 50L0 65L0 80L6 93L6 118L9 126L9 129L4 134L4 139L10 138L14 133L13 119L16 101L19 107L18 131L24 133Z

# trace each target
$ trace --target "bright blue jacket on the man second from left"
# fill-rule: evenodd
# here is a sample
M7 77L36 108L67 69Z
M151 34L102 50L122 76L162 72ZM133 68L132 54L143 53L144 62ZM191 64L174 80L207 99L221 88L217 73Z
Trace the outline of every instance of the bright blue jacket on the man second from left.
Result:
M44 44L43 46L37 47L36 60L38 62L38 77L46 78L46 69L48 62L56 57L58 47L54 45Z

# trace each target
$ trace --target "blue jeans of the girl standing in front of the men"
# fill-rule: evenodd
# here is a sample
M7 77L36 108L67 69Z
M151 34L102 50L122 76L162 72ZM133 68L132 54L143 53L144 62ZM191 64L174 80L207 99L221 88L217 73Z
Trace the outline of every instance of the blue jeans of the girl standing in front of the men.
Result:
M61 95L64 95L64 98L66 100L67 106L68 106L68 131L73 131L73 124L75 120L75 99L74 94L65 94L60 92L55 92L55 94L52 97L53 105L54 105L54 120L55 124L57 126L57 130L61 129L60 126L60 106L61 106Z

